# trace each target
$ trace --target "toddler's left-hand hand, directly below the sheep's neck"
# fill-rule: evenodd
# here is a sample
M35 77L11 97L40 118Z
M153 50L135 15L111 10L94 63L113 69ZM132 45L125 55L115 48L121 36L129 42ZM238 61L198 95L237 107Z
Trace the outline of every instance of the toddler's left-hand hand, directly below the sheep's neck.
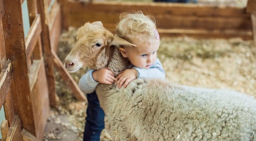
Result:
M117 80L113 72L107 68L95 70L92 75L95 81L98 81L104 84L112 84Z

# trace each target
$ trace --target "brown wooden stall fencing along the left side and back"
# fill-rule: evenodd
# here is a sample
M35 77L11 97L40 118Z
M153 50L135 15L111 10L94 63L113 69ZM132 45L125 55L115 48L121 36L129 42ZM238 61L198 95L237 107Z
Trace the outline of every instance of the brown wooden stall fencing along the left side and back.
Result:
M54 68L74 97L86 101L56 50L62 29L87 21L114 32L120 13L141 10L162 36L240 37L256 42L256 1L247 7L193 4L0 0L0 140L42 140L50 105L57 104Z

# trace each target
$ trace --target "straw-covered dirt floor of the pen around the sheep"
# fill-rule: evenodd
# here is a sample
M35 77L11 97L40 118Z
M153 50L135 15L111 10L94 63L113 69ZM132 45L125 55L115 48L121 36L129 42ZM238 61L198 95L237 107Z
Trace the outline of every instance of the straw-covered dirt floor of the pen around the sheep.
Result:
M76 31L70 27L61 34L57 54L62 61L75 43ZM256 97L256 46L252 41L161 37L158 58L166 79L174 83L231 89ZM73 73L73 78L78 82L86 70ZM57 71L55 86L59 103L51 108L44 140L82 140L87 103L74 98ZM111 137L103 130L101 140Z

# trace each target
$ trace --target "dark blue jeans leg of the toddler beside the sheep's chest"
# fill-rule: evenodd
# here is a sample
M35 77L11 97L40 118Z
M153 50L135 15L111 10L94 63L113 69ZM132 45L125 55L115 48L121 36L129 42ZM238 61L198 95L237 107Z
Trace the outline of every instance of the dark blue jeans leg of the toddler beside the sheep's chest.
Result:
M104 111L99 105L96 92L87 94L88 107L86 126L84 127L84 141L98 141L101 131L104 129Z

